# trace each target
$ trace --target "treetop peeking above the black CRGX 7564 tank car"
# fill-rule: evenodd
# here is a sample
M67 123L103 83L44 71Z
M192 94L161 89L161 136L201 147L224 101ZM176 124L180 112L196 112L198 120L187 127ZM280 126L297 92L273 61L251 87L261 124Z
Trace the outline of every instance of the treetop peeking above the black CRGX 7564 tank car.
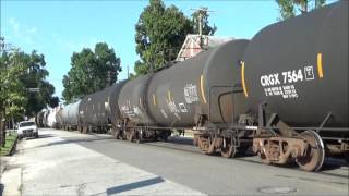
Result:
M325 5L326 0L276 0L280 9L279 21L303 14Z

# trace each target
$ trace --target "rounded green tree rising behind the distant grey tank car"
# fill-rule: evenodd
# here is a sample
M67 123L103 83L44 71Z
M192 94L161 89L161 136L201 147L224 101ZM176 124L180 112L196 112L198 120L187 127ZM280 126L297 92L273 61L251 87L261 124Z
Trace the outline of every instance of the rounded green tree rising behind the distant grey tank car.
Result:
M71 65L62 81L62 96L67 103L112 85L121 72L120 58L105 42L96 44L94 51L84 48L81 52L74 52Z

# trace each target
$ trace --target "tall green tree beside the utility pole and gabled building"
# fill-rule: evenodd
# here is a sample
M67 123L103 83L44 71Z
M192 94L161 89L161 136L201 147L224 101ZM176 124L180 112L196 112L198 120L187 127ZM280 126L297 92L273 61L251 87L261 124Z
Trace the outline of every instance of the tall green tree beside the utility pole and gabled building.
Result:
M193 17L197 15L193 14ZM216 27L208 26L204 16L203 32L213 35ZM188 34L196 32L196 21L186 17L177 7L165 7L161 0L149 0L135 25L136 52L135 74L146 74L173 61Z

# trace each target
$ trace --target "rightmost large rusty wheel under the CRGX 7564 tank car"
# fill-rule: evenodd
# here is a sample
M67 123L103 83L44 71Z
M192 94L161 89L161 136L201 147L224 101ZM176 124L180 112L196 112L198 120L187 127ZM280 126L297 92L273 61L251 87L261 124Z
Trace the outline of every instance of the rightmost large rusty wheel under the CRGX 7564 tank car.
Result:
M302 132L300 137L306 140L309 148L304 156L296 159L297 164L305 171L318 171L325 160L325 148L322 138L311 130Z

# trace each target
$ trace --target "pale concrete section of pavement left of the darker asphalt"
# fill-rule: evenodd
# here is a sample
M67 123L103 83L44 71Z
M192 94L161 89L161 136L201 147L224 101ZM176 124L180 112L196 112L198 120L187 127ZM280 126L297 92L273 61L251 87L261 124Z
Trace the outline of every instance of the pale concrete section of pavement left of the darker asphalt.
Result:
M19 143L2 175L4 195L203 195L76 144L91 135L40 133Z

